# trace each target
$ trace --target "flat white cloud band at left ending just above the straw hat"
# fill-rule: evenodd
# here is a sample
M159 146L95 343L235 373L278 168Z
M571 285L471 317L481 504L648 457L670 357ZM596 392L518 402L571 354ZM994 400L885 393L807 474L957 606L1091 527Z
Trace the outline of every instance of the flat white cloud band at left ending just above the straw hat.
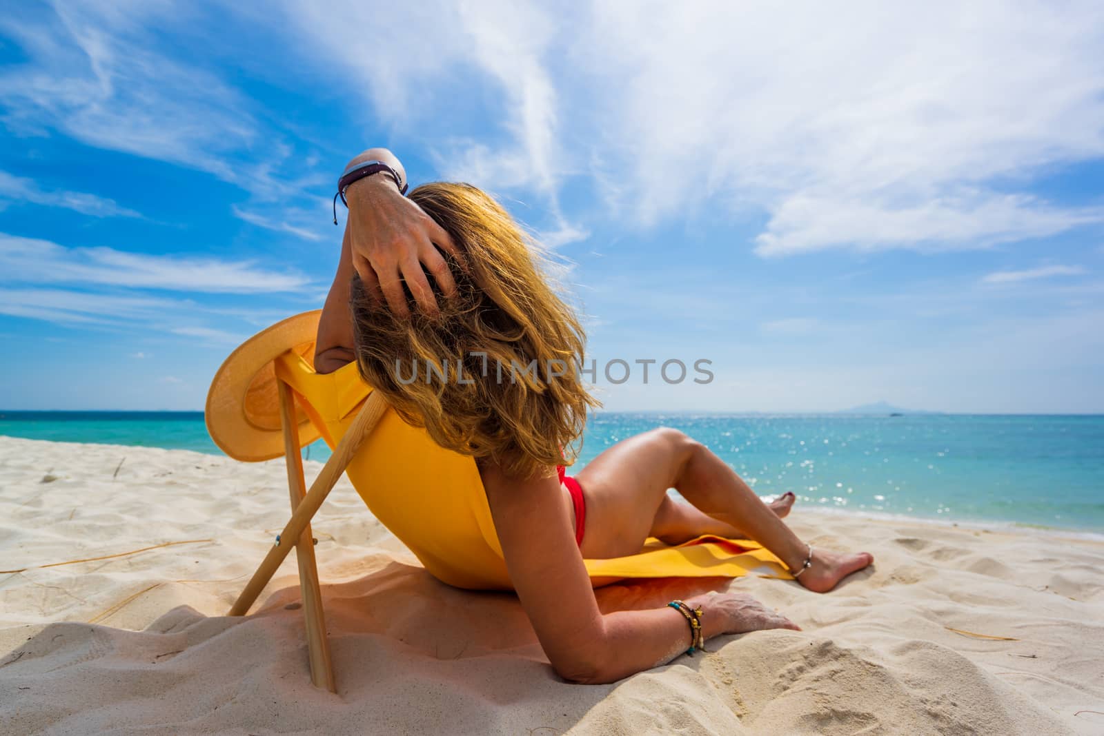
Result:
M253 261L150 256L113 248L66 248L0 234L0 271L10 282L78 283L206 293L294 292L310 284L295 272Z

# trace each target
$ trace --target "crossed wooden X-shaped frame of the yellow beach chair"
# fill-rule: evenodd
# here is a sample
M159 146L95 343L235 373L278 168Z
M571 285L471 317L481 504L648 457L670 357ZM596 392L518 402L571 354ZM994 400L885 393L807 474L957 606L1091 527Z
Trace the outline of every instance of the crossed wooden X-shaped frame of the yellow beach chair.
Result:
M368 396L363 407L353 420L330 459L305 491L302 475L302 453L299 446L299 423L295 411L295 391L277 379L279 391L280 425L284 432L284 455L287 463L287 487L291 499L291 518L284 531L276 537L276 543L265 555L261 566L253 573L245 589L237 596L230 616L244 616L261 595L265 585L276 574L284 559L296 550L299 563L299 589L302 594L302 615L307 630L307 651L310 658L310 681L316 688L337 692L333 679L333 663L330 646L326 639L326 616L322 611L322 595L318 582L318 565L315 561L315 541L310 534L310 520L321 508L333 486L341 478L357 451L379 423L386 410L386 402L375 391Z

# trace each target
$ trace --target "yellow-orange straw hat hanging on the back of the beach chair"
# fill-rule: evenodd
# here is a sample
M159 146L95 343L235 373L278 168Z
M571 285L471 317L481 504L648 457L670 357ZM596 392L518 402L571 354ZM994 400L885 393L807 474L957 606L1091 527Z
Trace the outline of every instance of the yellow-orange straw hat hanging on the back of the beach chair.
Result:
M288 350L312 361L321 314L321 310L304 312L257 333L231 353L214 375L204 419L211 439L231 457L256 463L284 454L274 361ZM299 445L305 447L320 433L301 407L296 419Z

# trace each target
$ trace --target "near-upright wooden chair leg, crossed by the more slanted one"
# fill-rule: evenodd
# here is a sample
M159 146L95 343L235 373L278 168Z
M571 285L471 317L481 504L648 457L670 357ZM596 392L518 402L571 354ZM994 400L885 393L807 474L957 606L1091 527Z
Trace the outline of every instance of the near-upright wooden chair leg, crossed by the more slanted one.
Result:
M287 488L291 498L291 513L307 495L302 477L302 448L299 446L299 422L295 412L295 392L284 381L277 381L279 416L284 429L284 458L287 463ZM299 563L299 592L302 597L302 617L306 624L307 652L310 659L310 681L316 688L337 692L330 643L326 638L326 614L322 610L322 592L318 583L315 561L315 540L308 523L295 543Z

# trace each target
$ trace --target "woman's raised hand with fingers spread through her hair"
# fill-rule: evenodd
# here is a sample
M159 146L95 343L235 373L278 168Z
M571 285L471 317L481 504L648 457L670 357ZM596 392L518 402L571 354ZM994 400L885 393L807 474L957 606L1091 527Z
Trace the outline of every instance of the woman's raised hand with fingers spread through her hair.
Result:
M374 174L353 182L346 198L352 266L365 290L385 300L392 312L405 316L410 314L405 283L423 311L437 314L437 300L426 274L433 277L445 296L456 292L442 256L445 251L460 259L448 234L404 197L390 176Z

